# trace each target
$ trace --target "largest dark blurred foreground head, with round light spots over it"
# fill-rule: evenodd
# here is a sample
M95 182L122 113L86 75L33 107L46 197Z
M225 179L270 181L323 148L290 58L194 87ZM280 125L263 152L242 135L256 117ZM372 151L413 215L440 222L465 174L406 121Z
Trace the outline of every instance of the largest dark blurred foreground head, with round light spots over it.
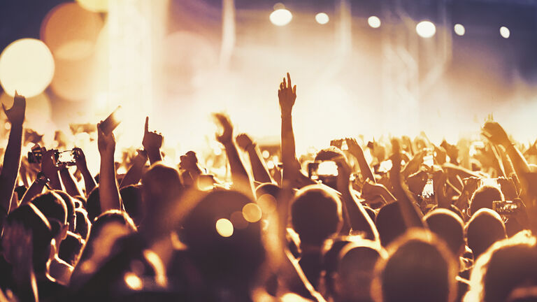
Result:
M243 217L243 209L259 207L234 191L213 191L201 197L178 229L188 254L206 280L250 285L264 261L261 216ZM252 219L255 218L255 219ZM238 227L241 226L241 227Z

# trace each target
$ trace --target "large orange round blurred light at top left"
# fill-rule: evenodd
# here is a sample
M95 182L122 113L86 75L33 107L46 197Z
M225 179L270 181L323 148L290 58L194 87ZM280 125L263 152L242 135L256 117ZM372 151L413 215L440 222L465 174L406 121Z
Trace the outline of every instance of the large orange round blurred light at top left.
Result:
M103 28L98 13L77 3L63 3L50 10L41 23L41 39L57 59L78 60L94 53Z

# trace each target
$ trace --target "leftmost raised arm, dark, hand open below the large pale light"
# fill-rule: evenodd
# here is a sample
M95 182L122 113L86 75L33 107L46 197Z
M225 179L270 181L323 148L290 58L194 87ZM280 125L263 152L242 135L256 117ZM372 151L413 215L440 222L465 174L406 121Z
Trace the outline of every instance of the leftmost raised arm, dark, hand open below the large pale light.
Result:
M19 173L22 123L24 122L24 113L26 111L26 99L15 92L13 107L6 110L6 107L2 104L2 108L11 124L8 146L3 155L3 167L0 173L0 207L1 215L5 218L9 213L11 197L15 189L15 180L17 180L17 174Z

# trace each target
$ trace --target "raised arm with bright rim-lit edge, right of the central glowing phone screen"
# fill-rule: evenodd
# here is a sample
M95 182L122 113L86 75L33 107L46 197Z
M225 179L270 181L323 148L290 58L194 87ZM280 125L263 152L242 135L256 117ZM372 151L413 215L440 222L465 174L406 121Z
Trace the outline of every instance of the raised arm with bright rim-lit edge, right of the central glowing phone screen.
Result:
M363 231L365 238L378 240L378 231L371 217L366 213L364 206L350 191L350 166L347 159L338 157L334 159L338 165L338 191L341 193L343 209L348 213L348 220L352 231Z

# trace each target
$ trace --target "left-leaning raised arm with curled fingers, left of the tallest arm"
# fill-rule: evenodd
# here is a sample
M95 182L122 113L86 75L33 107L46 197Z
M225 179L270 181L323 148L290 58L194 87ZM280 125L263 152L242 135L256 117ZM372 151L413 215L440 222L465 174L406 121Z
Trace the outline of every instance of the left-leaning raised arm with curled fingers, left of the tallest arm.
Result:
M250 181L250 175L244 168L243 161L238 155L237 146L235 145L233 137L233 124L229 120L227 115L222 113L214 113L215 119L222 126L221 135L216 135L217 141L219 141L226 150L227 160L231 167L231 179L233 180L234 187L241 189L241 192L248 192L253 194L252 182ZM253 195L252 195L253 196Z

